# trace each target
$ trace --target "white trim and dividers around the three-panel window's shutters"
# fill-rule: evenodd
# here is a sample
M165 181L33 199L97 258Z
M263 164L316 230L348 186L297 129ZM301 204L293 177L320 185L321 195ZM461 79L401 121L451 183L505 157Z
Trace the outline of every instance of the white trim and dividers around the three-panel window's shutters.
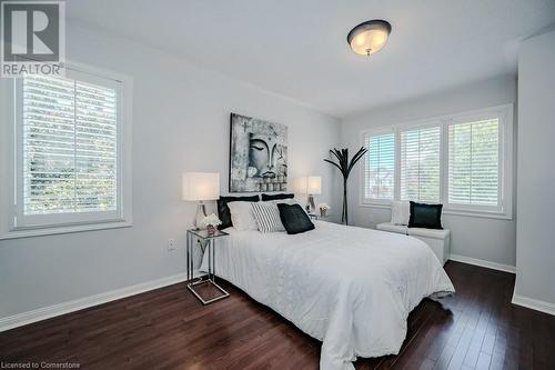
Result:
M448 129L457 123L477 122L496 119L498 122L498 151L497 151L497 202L496 204L476 206L463 203L450 203L450 140ZM367 146L367 138L384 133L395 133L395 176L393 199L366 198L366 167L367 157L361 166L361 191L360 204L362 207L390 208L392 200L401 198L401 132L418 128L430 128L438 126L441 129L440 142L440 202L444 204L444 213L460 214L496 219L513 218L513 104L497 106L456 114L435 117L407 123L389 127L379 127L361 132L361 142ZM415 200L417 201L417 200Z

